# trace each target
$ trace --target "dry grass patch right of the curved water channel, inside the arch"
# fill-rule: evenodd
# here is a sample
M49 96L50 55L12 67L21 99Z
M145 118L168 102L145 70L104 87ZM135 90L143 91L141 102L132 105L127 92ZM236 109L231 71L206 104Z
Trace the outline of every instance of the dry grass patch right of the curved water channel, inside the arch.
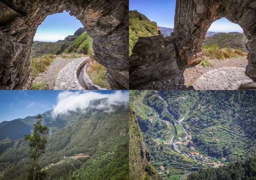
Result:
M89 57L92 60L92 64L90 66L90 70L87 71L90 79L92 79L94 84L97 84L98 86L110 89L110 86L108 84L108 81L106 79L106 68L95 61L93 57L93 50L92 48L88 51Z

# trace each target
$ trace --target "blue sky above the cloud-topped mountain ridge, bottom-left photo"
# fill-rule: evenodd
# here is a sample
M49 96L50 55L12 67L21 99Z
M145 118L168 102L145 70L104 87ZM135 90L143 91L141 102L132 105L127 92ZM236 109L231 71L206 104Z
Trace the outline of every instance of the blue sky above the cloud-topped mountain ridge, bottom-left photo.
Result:
M70 98L68 104L72 104L73 107L80 105L82 101L86 99L81 99L81 94L88 93L88 96L83 96L87 99L94 99L101 96L99 94L92 94L90 92L100 93L100 94L113 94L117 91L113 90L97 90L97 91L58 91L58 90L1 90L0 91L0 122L11 121L17 118L25 118L26 116L38 115L39 113L44 113L47 110L52 110L55 107L68 108L65 107L67 103L61 104L60 102L65 102L65 98ZM121 94L120 94L121 92ZM80 93L80 94L79 94ZM128 91L119 91L117 96L118 99L128 98L126 96ZM59 96L62 95L62 96ZM125 96L125 97L124 97ZM73 98L74 97L74 98ZM72 101L72 99L78 98L79 100Z

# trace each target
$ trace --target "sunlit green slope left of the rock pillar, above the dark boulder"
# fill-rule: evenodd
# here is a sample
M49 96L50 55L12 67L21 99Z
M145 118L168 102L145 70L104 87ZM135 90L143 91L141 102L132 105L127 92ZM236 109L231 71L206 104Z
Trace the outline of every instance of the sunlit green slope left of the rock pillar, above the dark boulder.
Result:
M129 54L139 37L151 37L160 35L157 23L149 20L138 11L129 11Z

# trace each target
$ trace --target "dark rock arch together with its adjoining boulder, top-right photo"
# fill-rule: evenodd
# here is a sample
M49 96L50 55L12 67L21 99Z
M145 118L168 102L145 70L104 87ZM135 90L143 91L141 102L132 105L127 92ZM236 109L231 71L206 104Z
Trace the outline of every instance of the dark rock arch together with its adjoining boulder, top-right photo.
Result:
M254 0L176 0L170 37L141 37L130 59L131 89L184 89L183 72L202 60L202 44L212 22L226 17L249 40L245 74L256 82L256 2ZM155 70L157 69L157 70ZM142 84L142 85L141 85Z

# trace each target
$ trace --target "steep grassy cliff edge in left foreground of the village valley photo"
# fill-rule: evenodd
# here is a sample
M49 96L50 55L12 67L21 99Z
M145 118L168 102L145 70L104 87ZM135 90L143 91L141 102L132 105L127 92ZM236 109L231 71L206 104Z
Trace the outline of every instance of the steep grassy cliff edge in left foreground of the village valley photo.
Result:
M149 163L149 152L143 142L142 132L133 109L130 109L129 123L130 179L161 180L154 167Z

